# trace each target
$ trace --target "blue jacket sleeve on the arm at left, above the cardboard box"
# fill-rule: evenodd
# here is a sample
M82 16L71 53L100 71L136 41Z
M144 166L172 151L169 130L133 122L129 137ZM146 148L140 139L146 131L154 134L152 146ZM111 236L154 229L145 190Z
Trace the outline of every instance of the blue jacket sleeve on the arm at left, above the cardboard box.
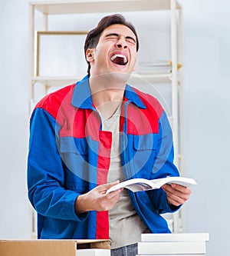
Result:
M28 198L43 216L84 221L87 213L77 215L74 204L77 192L64 188L64 167L58 152L58 124L42 108L31 116L28 152Z

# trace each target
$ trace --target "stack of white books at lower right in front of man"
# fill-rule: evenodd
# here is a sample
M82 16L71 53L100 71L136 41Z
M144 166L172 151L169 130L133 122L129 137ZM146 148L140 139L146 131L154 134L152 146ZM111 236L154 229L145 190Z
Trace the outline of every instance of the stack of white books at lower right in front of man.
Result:
M207 241L208 233L142 234L138 256L201 256L206 253Z

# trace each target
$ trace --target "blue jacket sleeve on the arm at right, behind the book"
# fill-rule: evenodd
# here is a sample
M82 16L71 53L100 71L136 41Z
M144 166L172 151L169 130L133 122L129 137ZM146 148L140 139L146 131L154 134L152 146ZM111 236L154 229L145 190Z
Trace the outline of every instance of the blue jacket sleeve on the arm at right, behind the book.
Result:
M151 179L165 178L167 176L179 176L179 171L173 163L174 151L172 141L172 129L166 112L159 118L159 135L156 147L156 160L153 166ZM163 189L148 191L149 197L154 207L159 213L173 212L179 209L169 207L166 198L166 192Z

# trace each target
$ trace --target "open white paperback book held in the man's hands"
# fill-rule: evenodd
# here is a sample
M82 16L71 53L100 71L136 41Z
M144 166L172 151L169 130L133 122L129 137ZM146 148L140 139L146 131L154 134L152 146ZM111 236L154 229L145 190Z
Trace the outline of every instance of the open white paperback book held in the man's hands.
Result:
M178 184L184 187L190 187L191 185L196 185L196 182L193 178L184 178L184 177L166 177L166 178L156 178L154 180L146 180L145 178L133 178L128 181L120 182L117 185L109 188L107 194L115 191L119 188L127 188L130 191L146 191L151 189L158 189L165 184Z

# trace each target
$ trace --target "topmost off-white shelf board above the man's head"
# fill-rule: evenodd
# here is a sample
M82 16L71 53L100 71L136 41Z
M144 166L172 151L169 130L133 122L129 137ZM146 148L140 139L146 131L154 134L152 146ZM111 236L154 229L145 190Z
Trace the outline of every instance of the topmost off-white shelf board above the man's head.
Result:
M75 0L30 2L35 9L46 15L92 12L140 12L170 10L169 0ZM176 8L181 6L176 3Z

